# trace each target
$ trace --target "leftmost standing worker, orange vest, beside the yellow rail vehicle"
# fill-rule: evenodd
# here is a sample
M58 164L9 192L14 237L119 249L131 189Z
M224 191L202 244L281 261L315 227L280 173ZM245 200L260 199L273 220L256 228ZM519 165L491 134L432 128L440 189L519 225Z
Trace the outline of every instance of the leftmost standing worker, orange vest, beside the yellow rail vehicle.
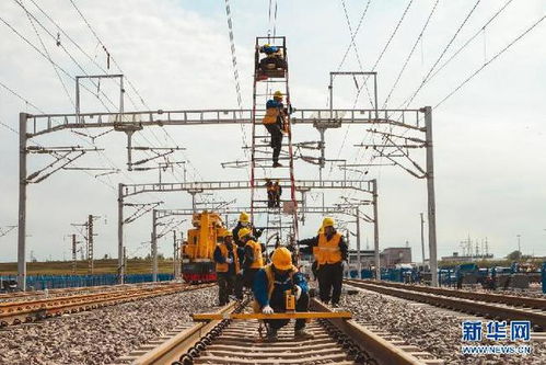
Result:
M225 229L219 235L220 242L213 253L217 264L218 301L220 306L226 305L229 296L234 293L237 299L243 299L242 287L236 277L241 272L237 247L233 242L233 235Z

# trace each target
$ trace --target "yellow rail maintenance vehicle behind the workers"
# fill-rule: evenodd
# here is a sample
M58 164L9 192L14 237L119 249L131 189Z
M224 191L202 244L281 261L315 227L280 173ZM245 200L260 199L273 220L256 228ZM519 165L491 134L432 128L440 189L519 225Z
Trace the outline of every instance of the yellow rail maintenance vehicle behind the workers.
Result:
M182 276L186 283L208 283L217 280L212 255L219 236L226 228L222 218L212 212L195 213L194 228L188 229L182 250Z

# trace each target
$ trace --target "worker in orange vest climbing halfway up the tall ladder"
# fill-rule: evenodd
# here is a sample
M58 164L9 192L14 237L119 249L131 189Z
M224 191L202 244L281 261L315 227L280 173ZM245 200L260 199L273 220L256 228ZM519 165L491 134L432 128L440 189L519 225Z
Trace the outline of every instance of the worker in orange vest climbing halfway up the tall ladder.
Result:
M283 133L288 130L286 122L287 114L288 110L284 109L284 104L282 104L282 93L276 91L274 93L274 99L268 100L266 103L266 115L262 121L267 132L271 135L270 146L274 150L274 168L282 167L282 164L279 163L279 155L282 147Z

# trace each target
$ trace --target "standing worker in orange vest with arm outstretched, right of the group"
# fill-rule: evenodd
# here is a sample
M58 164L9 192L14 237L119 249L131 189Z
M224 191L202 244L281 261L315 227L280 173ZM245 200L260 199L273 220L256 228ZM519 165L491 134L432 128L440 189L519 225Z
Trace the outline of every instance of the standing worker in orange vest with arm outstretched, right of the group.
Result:
M318 235L300 240L300 252L313 253L313 272L318 280L321 301L337 307L341 296L344 265L347 265L348 248L344 237L335 229L335 220L326 217ZM315 269L316 267L316 269Z

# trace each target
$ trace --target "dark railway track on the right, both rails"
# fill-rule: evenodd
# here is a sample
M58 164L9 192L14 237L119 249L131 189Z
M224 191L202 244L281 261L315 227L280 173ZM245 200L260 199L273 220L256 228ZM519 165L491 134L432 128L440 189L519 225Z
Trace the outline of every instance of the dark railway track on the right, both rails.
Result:
M345 283L372 292L486 318L530 320L535 329L546 329L546 300L544 299L375 281L346 280Z

